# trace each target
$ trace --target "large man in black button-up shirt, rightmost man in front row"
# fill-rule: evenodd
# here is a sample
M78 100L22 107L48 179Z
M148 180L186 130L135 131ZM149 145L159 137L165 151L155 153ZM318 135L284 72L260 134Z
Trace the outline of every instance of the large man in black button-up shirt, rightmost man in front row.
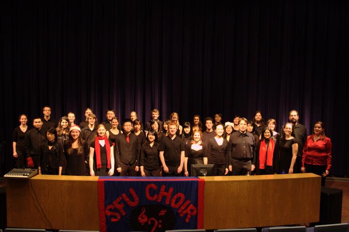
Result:
M239 131L230 136L232 175L249 175L254 170L251 160L255 153L255 140L246 130L247 122L246 118L240 118Z

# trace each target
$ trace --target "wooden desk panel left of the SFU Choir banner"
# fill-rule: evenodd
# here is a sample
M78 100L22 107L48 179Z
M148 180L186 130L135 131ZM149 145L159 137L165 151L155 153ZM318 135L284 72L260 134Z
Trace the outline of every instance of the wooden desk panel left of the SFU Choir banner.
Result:
M97 179L37 175L8 180L7 226L99 230Z

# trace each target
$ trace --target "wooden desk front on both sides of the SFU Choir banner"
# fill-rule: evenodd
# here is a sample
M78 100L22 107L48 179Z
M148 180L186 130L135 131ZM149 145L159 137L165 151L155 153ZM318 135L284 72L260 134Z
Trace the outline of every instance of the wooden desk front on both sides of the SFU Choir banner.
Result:
M312 173L205 179L204 229L319 220L321 178ZM8 179L7 227L99 230L98 177Z

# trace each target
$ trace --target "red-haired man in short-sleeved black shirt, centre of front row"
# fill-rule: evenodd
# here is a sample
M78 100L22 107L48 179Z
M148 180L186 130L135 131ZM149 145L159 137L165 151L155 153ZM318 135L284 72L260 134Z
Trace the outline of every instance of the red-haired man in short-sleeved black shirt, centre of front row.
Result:
M175 122L168 124L169 135L161 140L159 156L162 176L180 176L184 164L185 143L176 136L178 127Z

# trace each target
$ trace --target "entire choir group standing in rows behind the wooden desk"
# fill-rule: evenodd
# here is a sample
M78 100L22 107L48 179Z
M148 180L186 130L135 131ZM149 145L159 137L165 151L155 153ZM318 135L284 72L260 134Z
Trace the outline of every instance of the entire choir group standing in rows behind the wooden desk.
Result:
M160 121L158 109L144 125L134 111L122 124L112 109L101 124L91 108L79 125L73 112L58 124L50 107L43 114L32 119L30 130L28 117L19 116L13 132L17 168L34 167L52 175L145 177L190 176L191 164L214 164L215 175L313 172L322 176L322 185L331 168L332 143L323 123L316 122L307 136L296 110L289 112L280 133L276 120L264 123L259 110L252 121L236 115L223 124L217 113L203 122L194 115L183 125L175 112Z

